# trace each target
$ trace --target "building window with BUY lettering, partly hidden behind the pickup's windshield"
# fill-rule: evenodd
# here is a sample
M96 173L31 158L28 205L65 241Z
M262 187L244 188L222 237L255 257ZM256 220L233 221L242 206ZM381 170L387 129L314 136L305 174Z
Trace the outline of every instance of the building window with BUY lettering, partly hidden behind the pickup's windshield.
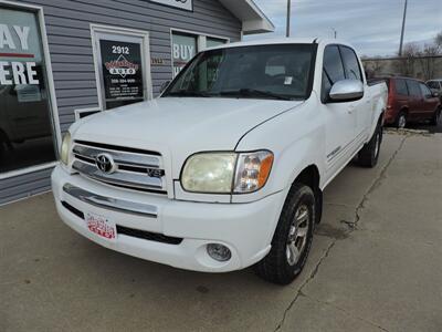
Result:
M172 31L173 77L201 49L228 43L228 39L212 38L204 34Z

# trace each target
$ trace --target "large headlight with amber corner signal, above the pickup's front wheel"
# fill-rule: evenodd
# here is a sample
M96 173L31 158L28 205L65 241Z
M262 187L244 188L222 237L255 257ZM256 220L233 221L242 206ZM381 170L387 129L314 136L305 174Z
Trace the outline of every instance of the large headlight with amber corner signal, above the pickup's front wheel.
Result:
M252 193L265 185L272 164L273 154L269 151L200 153L186 162L181 185L192 193Z

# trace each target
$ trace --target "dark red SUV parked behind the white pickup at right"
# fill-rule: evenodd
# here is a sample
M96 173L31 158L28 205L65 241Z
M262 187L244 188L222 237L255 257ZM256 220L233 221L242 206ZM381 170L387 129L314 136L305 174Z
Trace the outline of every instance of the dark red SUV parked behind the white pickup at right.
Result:
M425 83L409 77L385 79L388 85L386 124L398 128L408 122L430 120L438 125L441 117L441 101Z

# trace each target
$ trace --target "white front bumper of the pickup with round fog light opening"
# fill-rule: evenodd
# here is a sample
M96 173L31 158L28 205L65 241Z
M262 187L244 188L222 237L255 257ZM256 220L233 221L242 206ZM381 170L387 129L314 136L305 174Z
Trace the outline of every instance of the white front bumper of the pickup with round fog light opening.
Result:
M66 188L77 190L80 196ZM286 194L276 193L249 204L179 201L102 185L70 175L61 166L52 173L52 189L62 220L90 240L146 260L204 272L243 269L265 257ZM63 201L84 214L105 216L117 226L182 241L171 245L123 234L108 241L91 232L85 220L63 206ZM213 260L207 253L208 243L229 247L231 259Z

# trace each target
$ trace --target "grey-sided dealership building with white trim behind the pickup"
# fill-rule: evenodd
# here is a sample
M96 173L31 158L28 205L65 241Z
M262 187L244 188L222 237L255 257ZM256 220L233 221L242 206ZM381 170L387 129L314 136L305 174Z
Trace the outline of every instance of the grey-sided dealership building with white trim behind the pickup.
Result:
M273 30L253 0L0 0L0 205L50 190L76 118L152 98L198 51Z

